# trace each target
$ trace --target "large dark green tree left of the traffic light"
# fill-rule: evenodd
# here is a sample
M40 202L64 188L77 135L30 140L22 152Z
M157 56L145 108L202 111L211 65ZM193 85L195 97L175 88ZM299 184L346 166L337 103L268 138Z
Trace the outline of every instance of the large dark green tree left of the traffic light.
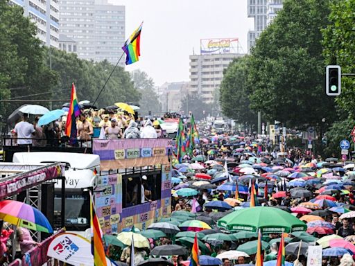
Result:
M322 33L329 0L288 0L261 33L248 59L250 106L289 127L334 121L334 99L324 93Z

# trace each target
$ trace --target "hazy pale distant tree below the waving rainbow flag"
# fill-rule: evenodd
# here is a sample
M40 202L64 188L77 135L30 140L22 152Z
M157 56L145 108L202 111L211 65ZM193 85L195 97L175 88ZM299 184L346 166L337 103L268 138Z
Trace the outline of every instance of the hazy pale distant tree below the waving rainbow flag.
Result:
M150 78L146 72L141 70L133 71L131 78L135 89L141 94L141 100L139 100L141 109L139 113L148 115L149 111L153 114L162 112L162 105L159 103L159 97L155 91L153 78Z

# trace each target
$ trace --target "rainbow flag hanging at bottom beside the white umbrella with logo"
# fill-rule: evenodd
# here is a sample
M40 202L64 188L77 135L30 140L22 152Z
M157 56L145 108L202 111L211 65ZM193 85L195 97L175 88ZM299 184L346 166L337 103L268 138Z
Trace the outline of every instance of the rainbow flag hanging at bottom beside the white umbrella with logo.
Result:
M105 249L103 248L103 234L95 212L94 201L90 193L90 224L92 228L92 255L94 266L107 266Z

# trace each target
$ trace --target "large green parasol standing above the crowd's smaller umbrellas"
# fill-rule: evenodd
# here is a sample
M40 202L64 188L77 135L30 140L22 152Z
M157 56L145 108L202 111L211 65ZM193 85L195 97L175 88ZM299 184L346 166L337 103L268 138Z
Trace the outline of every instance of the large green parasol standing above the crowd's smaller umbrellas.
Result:
M234 211L218 220L217 225L230 231L257 232L261 229L261 233L290 233L307 229L304 222L290 213L266 206Z

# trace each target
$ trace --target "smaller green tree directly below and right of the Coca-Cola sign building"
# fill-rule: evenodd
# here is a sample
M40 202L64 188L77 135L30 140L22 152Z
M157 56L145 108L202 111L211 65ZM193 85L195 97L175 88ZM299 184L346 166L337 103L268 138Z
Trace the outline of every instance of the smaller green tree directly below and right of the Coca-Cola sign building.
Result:
M223 74L220 84L220 106L223 114L237 123L253 124L257 114L250 110L250 100L246 88L248 57L235 59Z

